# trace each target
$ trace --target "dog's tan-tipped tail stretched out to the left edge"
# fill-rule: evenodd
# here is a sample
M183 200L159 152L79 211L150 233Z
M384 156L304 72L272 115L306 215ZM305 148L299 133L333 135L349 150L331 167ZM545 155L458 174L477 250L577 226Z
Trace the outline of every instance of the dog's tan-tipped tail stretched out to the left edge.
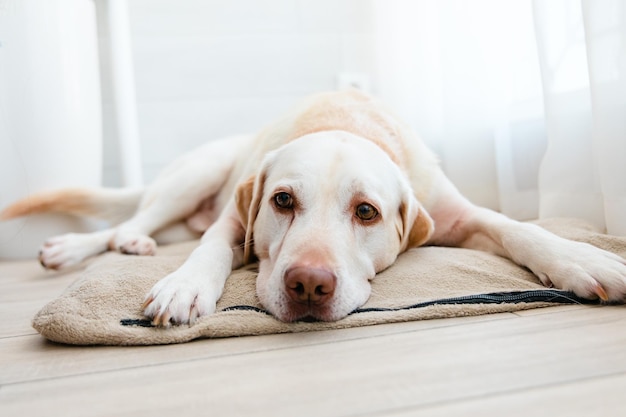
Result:
M0 211L0 221L47 212L104 219L118 224L137 210L143 190L67 188L32 194Z

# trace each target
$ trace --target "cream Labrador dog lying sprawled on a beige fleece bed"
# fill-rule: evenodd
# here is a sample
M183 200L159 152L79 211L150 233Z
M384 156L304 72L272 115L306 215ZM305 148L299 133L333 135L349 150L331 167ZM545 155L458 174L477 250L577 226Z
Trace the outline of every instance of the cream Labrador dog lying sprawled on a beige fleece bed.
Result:
M153 255L163 231L202 233L146 296L157 326L213 313L231 271L253 261L258 298L278 320L339 320L367 301L378 272L422 245L491 252L580 297L626 296L624 259L470 203L411 129L356 90L315 95L255 136L209 142L145 190L44 192L0 218L46 211L129 217L49 239L39 260L51 269L106 250Z

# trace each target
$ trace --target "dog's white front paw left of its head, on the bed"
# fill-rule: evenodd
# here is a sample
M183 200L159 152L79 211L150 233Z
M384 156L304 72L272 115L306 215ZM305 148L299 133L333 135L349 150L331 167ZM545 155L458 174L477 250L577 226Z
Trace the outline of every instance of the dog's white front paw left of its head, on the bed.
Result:
M143 303L144 314L155 326L194 324L215 311L219 298L206 282L206 276L173 272L152 287Z

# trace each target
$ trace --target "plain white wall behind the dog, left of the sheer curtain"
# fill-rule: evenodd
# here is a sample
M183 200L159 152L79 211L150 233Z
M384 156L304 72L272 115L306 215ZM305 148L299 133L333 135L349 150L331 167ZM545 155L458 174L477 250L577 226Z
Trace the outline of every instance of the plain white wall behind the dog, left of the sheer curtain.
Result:
M128 4L146 182L184 151L208 140L254 132L303 96L335 89L340 73L375 78L369 0ZM104 184L117 186L104 26L99 34Z

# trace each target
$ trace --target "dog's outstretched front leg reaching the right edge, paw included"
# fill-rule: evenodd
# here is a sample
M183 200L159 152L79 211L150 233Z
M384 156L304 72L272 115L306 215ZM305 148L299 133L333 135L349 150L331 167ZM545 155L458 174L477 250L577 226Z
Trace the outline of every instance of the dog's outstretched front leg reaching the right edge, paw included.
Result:
M548 287L624 301L626 260L620 256L474 206L447 183L430 214L435 220L431 244L491 252L527 267Z

